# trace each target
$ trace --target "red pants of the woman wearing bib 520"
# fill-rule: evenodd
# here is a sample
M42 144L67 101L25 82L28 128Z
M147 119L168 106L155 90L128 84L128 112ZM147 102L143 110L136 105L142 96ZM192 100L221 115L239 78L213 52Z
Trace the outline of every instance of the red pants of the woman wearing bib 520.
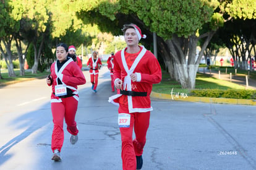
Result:
M67 131L72 135L77 135L77 122L75 113L77 112L78 101L74 97L62 98L61 103L51 103L51 113L53 114L53 135L51 137L51 149L61 151L64 141L63 121L65 118Z

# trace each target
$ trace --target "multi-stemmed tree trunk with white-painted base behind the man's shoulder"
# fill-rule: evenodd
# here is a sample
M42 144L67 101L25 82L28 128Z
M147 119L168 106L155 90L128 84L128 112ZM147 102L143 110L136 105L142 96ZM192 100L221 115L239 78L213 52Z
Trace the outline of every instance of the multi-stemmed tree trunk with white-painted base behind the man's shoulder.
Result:
M166 58L166 64L168 68L174 68L172 74L174 75L174 79L181 83L182 88L195 88L195 78L203 56L203 51L207 48L214 33L215 32L208 32L199 37L194 34L188 38L173 35L171 40L166 40L166 45L170 50L170 55ZM197 43L200 38L205 38L205 41L202 45L202 50L197 56Z

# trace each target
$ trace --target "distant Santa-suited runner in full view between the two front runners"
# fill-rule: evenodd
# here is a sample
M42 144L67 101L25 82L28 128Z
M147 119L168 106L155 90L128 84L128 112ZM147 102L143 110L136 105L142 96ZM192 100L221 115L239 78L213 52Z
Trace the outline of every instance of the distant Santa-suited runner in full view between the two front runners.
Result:
M88 59L87 66L90 68L90 78L92 83L92 90L97 92L99 69L102 66L101 60L98 58L98 53L93 51L93 56Z

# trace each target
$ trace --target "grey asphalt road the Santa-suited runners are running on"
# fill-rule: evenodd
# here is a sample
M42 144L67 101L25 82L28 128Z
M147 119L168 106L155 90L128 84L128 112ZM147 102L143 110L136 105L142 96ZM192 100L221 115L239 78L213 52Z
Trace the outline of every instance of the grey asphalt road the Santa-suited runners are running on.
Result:
M122 169L117 106L108 103L114 94L110 75L101 69L98 93L92 93L88 70L84 74L79 141L69 143L64 125L58 163L51 160L51 88L45 80L0 88L0 169ZM159 99L151 104L142 169L256 169L255 106Z

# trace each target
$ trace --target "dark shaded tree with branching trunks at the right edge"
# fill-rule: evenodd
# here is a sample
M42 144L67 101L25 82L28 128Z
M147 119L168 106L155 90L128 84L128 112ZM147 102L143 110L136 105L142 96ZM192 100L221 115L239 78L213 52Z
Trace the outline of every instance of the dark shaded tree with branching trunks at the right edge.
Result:
M220 41L228 47L235 61L235 67L247 70L247 61L255 54L255 29L254 19L233 19L218 30ZM250 68L252 69L252 66Z

